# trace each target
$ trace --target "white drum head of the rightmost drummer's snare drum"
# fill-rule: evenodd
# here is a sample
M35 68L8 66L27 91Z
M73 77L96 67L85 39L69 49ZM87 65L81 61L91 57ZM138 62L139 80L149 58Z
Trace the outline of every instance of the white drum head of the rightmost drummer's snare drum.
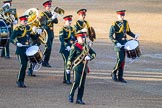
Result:
M137 46L138 46L138 42L136 40L130 40L125 43L124 49L133 50L133 49L137 48Z

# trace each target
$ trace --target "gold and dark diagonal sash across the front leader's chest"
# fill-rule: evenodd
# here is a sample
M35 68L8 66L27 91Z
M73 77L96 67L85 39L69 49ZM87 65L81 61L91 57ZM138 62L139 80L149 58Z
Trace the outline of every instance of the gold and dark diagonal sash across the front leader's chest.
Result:
M82 53L73 61L72 68L77 66L79 63L83 62L85 56L87 56L89 53L89 48L86 45L84 49L82 50Z

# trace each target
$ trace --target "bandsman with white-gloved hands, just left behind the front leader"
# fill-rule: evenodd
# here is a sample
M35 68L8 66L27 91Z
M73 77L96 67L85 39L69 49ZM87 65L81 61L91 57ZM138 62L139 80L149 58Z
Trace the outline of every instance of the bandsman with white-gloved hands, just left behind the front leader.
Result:
M59 38L60 38L60 42L61 42L60 53L61 53L63 60L64 60L63 83L71 84L70 73L66 72L66 64L67 64L67 59L68 59L69 52L70 52L70 49L71 49L71 45L76 40L75 37L74 37L75 30L74 30L73 27L71 27L72 15L65 16L63 19L64 19L64 22L65 22L64 27L62 27L60 32L59 32Z

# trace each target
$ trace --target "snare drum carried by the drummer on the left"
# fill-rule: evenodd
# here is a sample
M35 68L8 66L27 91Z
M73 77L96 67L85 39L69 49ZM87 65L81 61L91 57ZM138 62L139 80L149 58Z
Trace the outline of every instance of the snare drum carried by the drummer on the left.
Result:
M26 50L26 55L28 56L28 59L33 64L41 64L43 54L38 46L31 46Z

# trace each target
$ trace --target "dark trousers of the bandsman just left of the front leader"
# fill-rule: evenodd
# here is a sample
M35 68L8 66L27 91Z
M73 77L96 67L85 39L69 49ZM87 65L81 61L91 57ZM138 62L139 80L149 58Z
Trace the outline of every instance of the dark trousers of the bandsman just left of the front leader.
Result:
M67 60L68 60L68 56L69 56L69 51L65 50L64 53L61 53L62 58L64 60L64 81L70 81L70 73L67 74L66 70L66 65L67 65Z

